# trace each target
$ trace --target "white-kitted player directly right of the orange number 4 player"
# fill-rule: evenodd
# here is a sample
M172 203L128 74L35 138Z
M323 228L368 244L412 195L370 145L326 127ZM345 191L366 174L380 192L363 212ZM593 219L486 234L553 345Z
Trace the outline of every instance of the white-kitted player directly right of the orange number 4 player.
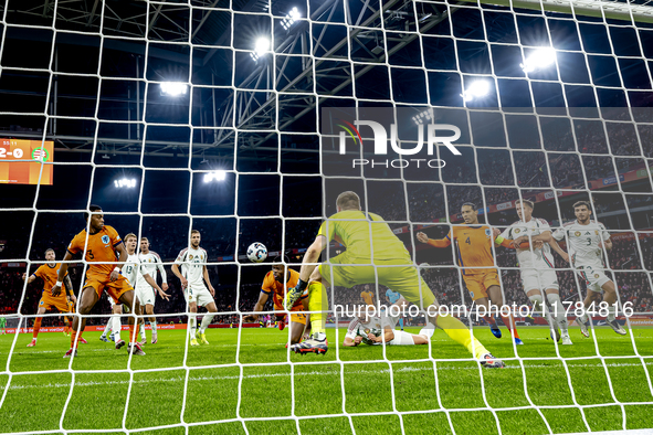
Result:
M554 255L549 246L551 240L549 223L544 219L533 217L533 209L535 208L533 201L516 201L515 208L519 220L508 226L502 233L502 237L513 240L517 246L523 242L543 242L541 247L535 247L539 245L536 244L533 248L518 247L516 250L524 291L533 303L534 310L541 314L549 326L554 328L556 336L558 328L560 328L562 344L572 344L569 338L567 314L560 300L560 286L554 268ZM552 311L547 308L543 291L546 294ZM551 319L551 316L555 319Z

